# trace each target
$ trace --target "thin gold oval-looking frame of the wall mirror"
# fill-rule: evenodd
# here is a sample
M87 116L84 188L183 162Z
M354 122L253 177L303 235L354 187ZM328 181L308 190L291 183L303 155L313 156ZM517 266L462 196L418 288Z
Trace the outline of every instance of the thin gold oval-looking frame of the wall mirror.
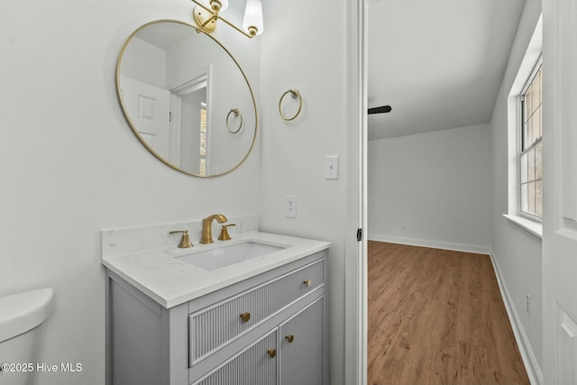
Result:
M191 28L192 32L197 32L197 33L203 33L205 34L207 37L209 37L210 39L212 39L213 41L215 41L216 44L218 44L223 50L224 52L226 52L226 54L233 60L234 64L236 65L236 67L240 70L241 74L243 75L243 79L246 82L246 86L248 87L249 93L251 95L252 98L252 105L254 107L254 134L252 136L252 142L251 145L248 149L248 151L246 151L246 154L244 154L243 159L240 160L237 164L235 164L230 170L225 170L224 172L218 172L212 175L199 175L199 174L195 174L193 172L190 172L188 170L184 170L178 166L176 166L175 164L171 163L169 160L166 160L164 157L162 157L157 151L154 151L154 149L151 147L151 145L146 142L144 140L144 138L142 137L141 133L137 130L136 125L133 123L133 120L131 118L131 116L129 115L126 106L124 105L124 99L122 96L122 91L121 91L121 84L120 84L120 69L121 69L121 65L122 65L122 60L123 60L123 56L124 56L124 51L126 50L126 47L128 46L128 44L130 43L130 41L133 39L133 37L140 31L142 31L142 29L151 26L153 24L157 24L157 23L179 23L185 26L188 26ZM118 103L121 106L121 109L123 111L123 115L124 118L126 119L126 122L128 123L128 125L130 126L131 130L133 131L134 135L138 138L139 142L142 143L142 145L151 152L152 155L154 155L158 160L160 160L162 163L166 164L167 166L169 166L171 169L173 170L178 170L184 174L193 176L193 177L198 177L198 178L213 178L213 177L219 177L225 174L228 174L236 169L238 169L244 162L244 160L246 160L248 158L248 156L251 154L252 148L254 147L254 143L256 142L256 137L257 137L257 133L258 133L258 127L259 127L259 116L258 116L258 111L257 111L257 106L256 106L256 100L254 98L254 94L252 92L252 87L251 84L249 83L248 78L246 77L246 74L244 73L243 69L241 68L240 64L238 63L238 61L236 59L234 59L233 54L227 50L224 45L218 41L217 39L215 39L215 37L211 36L210 34L200 30L197 28L197 26L192 25L190 23L185 23L179 20L173 20L173 19L160 19L160 20L155 20L152 21L150 23L145 23L143 25L141 25L139 28L137 28L133 33L131 33L131 35L128 37L128 39L126 39L126 41L124 41L124 45L123 48L120 50L120 53L118 55L118 60L116 61L116 96L118 98Z

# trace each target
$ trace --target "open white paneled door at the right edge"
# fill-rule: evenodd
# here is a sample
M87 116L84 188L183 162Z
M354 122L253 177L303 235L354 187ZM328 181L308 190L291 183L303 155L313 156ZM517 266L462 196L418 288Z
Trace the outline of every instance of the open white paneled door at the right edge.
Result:
M577 2L543 5L544 383L570 385L577 384Z

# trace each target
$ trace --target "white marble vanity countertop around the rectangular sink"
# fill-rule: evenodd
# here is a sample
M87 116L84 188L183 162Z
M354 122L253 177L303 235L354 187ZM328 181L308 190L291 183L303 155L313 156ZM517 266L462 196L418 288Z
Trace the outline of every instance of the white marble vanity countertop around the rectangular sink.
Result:
M323 241L261 232L231 234L231 237L233 239L230 241L195 243L194 247L189 249L179 249L175 245L148 252L103 256L102 264L161 306L170 308L291 261L297 261L330 246L330 243ZM210 271L177 258L193 252L250 241L286 248Z

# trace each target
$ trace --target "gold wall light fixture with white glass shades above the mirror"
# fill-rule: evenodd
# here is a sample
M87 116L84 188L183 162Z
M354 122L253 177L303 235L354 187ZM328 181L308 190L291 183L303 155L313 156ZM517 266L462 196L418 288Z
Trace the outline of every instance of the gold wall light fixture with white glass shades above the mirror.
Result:
M228 8L228 0L192 0L195 7L192 11L192 17L197 23L199 29L206 33L215 32L216 22L222 20L233 27L236 31L243 33L244 36L252 39L260 35L263 30L262 23L262 3L261 0L247 0L244 11L243 29L238 28L233 23L228 22L220 15Z

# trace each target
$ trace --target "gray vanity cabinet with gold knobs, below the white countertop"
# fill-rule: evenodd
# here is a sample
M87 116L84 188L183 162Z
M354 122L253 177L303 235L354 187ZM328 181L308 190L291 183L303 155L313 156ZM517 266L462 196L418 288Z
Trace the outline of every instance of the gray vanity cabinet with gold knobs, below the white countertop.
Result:
M108 271L108 385L327 385L326 251L169 309Z

